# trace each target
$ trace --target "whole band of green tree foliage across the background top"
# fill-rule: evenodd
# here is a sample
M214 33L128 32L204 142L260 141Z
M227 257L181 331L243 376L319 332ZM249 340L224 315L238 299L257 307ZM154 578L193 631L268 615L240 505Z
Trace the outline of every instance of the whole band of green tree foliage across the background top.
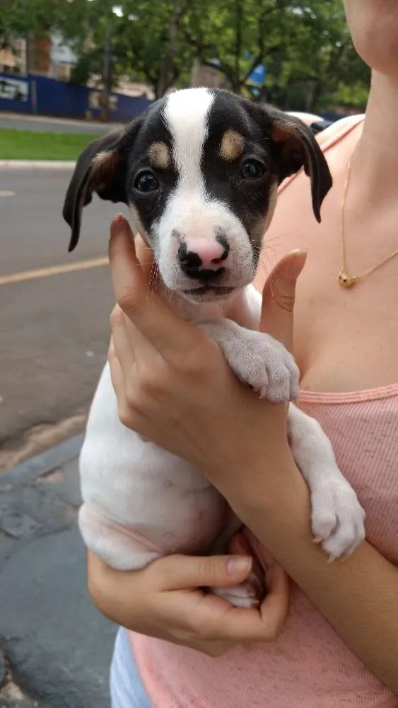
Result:
M194 59L243 95L264 64L260 97L285 109L359 107L368 90L341 0L0 0L3 42L51 29L78 53L81 83L103 76L107 38L111 83L140 79L156 97L188 86Z

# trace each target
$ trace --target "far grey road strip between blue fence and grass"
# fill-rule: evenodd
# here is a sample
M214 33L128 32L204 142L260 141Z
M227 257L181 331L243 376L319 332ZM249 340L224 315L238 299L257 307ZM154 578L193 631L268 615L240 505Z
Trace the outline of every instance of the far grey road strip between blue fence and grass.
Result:
M21 115L20 113L0 113L0 128L15 128L33 132L105 133L115 130L117 123L99 123L89 120L68 120L67 118L46 118L43 115Z

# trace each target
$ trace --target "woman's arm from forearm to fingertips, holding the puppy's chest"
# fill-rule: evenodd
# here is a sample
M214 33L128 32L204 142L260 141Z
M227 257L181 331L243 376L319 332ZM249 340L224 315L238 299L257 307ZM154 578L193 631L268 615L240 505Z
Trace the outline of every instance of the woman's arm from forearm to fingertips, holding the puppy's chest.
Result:
M283 406L259 401L203 333L146 295L122 222L110 258L120 306L111 362L122 421L198 464L347 646L398 695L398 570L367 542L344 563L327 563L312 542L308 488L287 445ZM273 307L264 310L262 327L287 344L298 273L286 277L282 265L264 292Z

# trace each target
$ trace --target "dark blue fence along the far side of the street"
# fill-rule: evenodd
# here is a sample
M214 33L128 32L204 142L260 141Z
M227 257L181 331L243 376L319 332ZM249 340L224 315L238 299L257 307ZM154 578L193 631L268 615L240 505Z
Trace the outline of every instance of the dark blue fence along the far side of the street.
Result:
M151 101L112 93L110 120L126 122ZM100 118L100 91L45 76L0 74L0 110L56 115L62 118Z

